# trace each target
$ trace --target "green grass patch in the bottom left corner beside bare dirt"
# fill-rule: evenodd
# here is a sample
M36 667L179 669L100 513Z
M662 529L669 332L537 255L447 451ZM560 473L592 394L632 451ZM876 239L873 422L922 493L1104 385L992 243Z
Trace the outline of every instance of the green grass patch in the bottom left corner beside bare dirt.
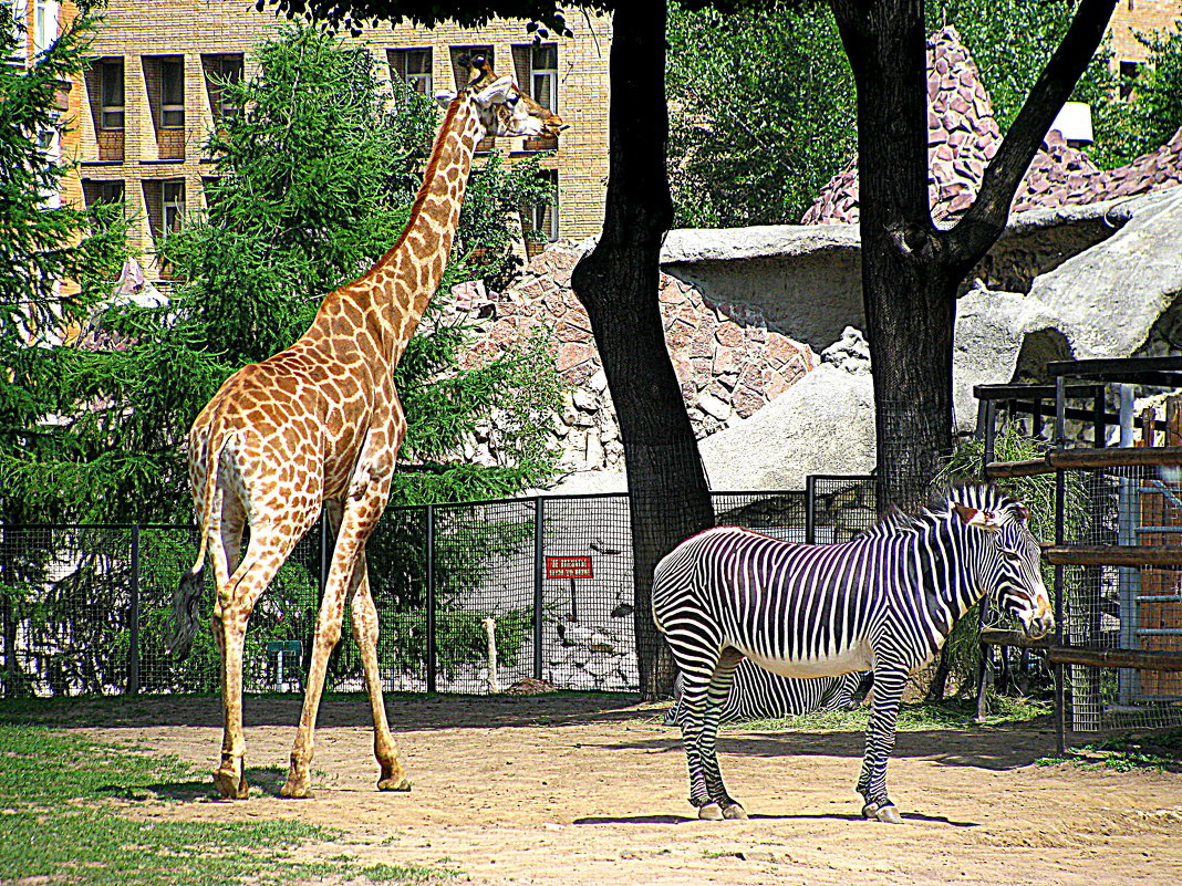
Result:
M37 727L0 725L0 882L225 886L369 878L342 861L291 860L306 842L342 832L288 820L183 822L122 815L124 801L176 802L210 794L204 774L175 760L96 744ZM390 868L392 872L395 868ZM440 881L452 871L407 868L401 880ZM375 878L369 878L375 879Z

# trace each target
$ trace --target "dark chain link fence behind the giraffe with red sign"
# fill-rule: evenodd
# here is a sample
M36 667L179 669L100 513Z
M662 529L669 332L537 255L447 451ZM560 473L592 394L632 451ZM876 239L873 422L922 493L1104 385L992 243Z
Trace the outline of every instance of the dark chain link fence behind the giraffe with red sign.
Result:
M871 477L810 477L805 491L716 493L713 503L720 525L790 541L845 541L877 512ZM208 618L184 660L165 651L173 589L196 549L186 526L0 527L0 691L217 691ZM260 598L243 658L248 691L303 689L331 551L323 525L314 528ZM559 689L638 688L626 495L389 508L366 556L388 690L479 693L527 677ZM212 602L207 580L207 612ZM364 688L349 631L327 686Z

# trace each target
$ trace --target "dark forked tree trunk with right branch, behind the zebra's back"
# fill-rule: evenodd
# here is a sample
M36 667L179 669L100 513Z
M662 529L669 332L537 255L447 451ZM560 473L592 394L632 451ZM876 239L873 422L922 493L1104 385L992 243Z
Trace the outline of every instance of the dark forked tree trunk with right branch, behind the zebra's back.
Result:
M858 95L862 287L886 502L924 504L952 447L957 288L1005 230L1022 175L1113 5L1080 0L975 202L952 230L937 230L928 197L923 0L831 0Z

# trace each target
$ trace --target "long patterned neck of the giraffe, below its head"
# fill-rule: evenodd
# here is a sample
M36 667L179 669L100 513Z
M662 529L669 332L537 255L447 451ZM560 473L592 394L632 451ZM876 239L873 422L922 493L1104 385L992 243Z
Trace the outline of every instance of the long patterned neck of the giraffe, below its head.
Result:
M397 365L443 278L481 135L470 96L455 99L435 137L402 236L364 275L325 299L313 328L322 319L331 327L332 301L352 301L382 358L391 369Z

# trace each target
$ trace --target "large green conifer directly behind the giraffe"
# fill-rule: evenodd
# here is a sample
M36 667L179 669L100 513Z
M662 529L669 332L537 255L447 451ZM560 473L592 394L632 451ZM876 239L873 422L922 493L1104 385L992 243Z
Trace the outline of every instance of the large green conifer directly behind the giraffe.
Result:
M64 458L60 476L85 490L74 507L65 504L65 483L39 477L35 489L57 503L59 519L191 519L180 443L194 416L233 371L301 334L323 295L381 256L409 217L437 125L434 105L409 91L385 100L371 53L310 27L290 26L256 52L259 74L222 87L242 111L221 118L209 138L217 181L208 211L160 246L183 282L156 306L104 311L97 324L116 346L41 357L73 379L60 411L103 443ZM461 237L467 252L495 265L505 237L489 217L521 195L548 195L533 168L494 171L474 189ZM441 288L476 279L486 266L454 260ZM535 432L558 400L557 382L539 383L533 358L541 343L459 371L467 337L462 325L431 315L408 348L398 372L413 404L407 452L442 460L481 415L513 403L507 423L517 437L507 450L520 457L400 476L394 502L502 494L541 482L552 468ZM32 471L44 468L25 460L21 470L33 483Z

